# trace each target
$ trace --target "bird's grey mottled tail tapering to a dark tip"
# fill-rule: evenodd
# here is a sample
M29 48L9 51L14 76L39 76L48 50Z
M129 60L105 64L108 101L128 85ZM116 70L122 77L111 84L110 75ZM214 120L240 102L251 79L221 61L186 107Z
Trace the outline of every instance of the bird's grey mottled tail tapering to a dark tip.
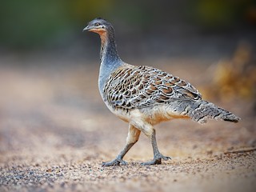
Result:
M228 122L238 122L240 118L230 113L230 111L224 110L218 106L215 106L211 102L204 100L194 102L191 105L188 115L196 122L205 123L208 118L216 120L224 120Z

